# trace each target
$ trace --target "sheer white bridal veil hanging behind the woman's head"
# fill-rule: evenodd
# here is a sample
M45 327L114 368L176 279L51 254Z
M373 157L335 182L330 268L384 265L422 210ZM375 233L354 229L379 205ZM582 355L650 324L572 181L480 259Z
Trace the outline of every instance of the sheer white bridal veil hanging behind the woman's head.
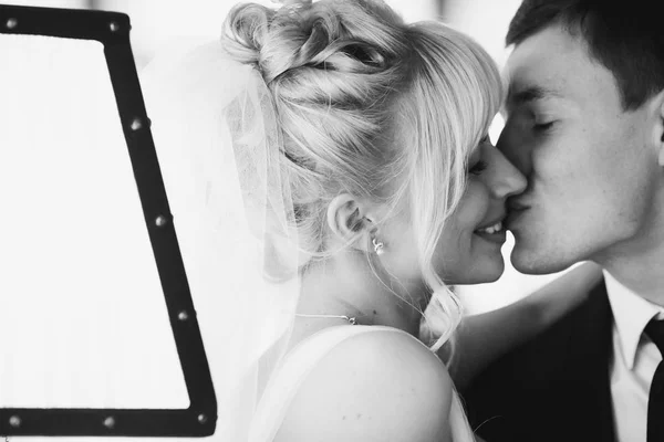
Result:
M304 261L271 96L220 42L170 48L141 82L215 385L214 438L245 441Z

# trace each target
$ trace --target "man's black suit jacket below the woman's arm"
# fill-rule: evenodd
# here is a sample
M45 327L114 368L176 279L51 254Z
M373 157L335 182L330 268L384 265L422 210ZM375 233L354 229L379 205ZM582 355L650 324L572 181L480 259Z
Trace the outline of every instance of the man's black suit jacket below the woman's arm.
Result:
M587 302L460 392L473 429L487 442L615 441L612 324L601 282Z

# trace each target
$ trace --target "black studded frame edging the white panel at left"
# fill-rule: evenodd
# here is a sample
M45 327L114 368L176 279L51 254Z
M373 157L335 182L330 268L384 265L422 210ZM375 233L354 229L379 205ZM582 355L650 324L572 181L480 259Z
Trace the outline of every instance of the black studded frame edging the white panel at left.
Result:
M96 40L104 55L154 251L189 408L0 408L1 435L207 436L217 400L129 43L129 18L106 11L0 4L0 33Z

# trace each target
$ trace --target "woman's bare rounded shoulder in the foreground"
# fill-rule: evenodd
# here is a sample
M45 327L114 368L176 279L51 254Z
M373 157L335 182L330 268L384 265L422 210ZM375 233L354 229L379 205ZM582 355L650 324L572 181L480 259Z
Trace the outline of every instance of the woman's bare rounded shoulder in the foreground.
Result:
M276 441L446 441L452 390L445 365L413 336L362 333L302 379Z

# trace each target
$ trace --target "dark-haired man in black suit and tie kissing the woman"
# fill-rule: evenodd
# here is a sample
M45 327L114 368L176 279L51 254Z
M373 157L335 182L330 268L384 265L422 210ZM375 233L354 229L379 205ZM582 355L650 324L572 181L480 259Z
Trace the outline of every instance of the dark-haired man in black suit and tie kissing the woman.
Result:
M511 261L605 277L463 392L489 442L664 441L664 18L616 3L523 0L509 25L498 148L529 181Z

